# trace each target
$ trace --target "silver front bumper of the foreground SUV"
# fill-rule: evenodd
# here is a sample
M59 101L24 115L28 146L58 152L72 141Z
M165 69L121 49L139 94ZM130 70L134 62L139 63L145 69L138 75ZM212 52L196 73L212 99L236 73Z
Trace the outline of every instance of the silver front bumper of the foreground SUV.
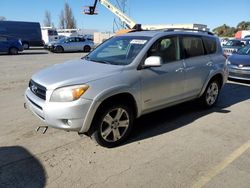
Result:
M47 126L66 131L80 131L92 100L82 99L72 102L45 101L27 88L26 107Z

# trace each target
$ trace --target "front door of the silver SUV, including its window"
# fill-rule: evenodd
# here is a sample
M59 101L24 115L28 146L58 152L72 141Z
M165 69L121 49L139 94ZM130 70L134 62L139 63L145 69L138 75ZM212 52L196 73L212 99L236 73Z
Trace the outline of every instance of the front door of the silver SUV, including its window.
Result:
M160 56L163 65L141 70L143 111L182 99L185 71L179 49L179 39L173 36L159 39L149 50L147 56Z

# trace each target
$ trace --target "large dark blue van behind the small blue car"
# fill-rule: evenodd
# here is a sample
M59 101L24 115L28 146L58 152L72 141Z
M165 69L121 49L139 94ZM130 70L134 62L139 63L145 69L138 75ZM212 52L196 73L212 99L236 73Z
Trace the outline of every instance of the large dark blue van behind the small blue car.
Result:
M20 39L24 49L43 46L41 27L37 22L0 21L0 35Z

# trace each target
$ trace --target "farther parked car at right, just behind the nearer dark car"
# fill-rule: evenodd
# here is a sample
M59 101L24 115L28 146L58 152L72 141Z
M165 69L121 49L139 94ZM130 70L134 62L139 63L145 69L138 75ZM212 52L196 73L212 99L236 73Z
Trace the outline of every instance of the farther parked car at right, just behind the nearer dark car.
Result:
M250 44L250 39L232 39L229 40L222 48L226 56L232 55L238 49Z

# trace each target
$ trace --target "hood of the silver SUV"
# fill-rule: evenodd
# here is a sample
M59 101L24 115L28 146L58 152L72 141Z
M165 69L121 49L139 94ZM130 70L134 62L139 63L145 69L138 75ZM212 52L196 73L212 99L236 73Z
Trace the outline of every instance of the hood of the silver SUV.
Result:
M114 74L123 66L109 65L83 59L68 61L45 68L32 76L32 80L47 89L88 83Z

